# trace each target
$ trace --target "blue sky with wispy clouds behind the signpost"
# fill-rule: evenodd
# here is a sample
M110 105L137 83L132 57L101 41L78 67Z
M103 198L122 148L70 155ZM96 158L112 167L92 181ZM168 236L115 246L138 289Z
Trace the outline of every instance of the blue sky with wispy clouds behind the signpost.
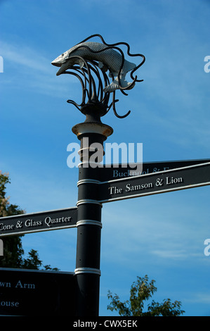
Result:
M117 94L118 119L107 142L143 143L143 161L209 158L210 55L208 0L0 1L0 169L8 195L27 213L77 204L77 168L67 167L72 126L84 121L67 99L80 101L74 77L56 76L51 61L89 35L128 42L146 57L143 82ZM154 279L154 299L182 302L187 316L210 315L210 187L145 196L103 205L100 315L107 290L129 298L137 276ZM25 235L45 264L74 271L77 230Z

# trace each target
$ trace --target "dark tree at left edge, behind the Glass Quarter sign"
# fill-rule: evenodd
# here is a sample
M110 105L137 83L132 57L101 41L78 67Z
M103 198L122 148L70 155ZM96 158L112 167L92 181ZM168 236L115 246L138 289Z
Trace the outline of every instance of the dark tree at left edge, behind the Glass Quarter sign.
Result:
M9 196L6 197L6 185L10 183L8 174L1 173L0 170L0 217L20 215L25 213L19 206L9 203ZM39 259L39 254L34 249L29 251L28 258L23 258L24 250L22 249L21 236L4 237L4 256L0 256L1 268L25 268L39 270L58 270L51 266L43 266Z

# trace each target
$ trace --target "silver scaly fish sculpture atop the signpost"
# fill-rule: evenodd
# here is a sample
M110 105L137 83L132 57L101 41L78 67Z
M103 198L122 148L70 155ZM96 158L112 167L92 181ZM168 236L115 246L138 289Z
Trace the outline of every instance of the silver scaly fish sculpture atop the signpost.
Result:
M56 73L56 75L60 75L65 70L73 68L74 64L79 64L80 68L83 68L84 61L82 61L82 58L88 61L98 61L98 67L101 70L104 72L109 70L109 76L116 77L110 85L103 89L104 92L114 92L121 87L133 88L134 84L127 82L125 77L126 73L136 68L136 64L126 61L118 51L107 48L105 44L100 42L81 42L55 58L51 64L60 67Z

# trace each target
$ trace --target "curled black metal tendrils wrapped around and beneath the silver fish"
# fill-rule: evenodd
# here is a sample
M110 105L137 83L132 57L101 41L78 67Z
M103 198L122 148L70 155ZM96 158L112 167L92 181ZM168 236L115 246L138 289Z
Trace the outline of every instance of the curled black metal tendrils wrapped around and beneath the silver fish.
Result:
M124 92L124 90L131 89L135 85L136 82L143 82L143 80L137 79L137 75L135 77L133 77L133 73L135 73L136 70L138 70L138 68L140 68L140 66L143 65L143 63L145 62L145 56L143 56L143 54L131 54L130 46L126 42L118 42L116 44L107 44L105 42L105 40L103 39L103 37L98 34L87 37L82 42L79 42L79 44L84 43L88 39L91 39L93 37L100 37L103 44L105 44L105 46L107 46L107 47L105 47L104 49L101 49L100 51L93 51L88 46L82 45L82 46L78 46L76 49L74 49L74 51L79 48L82 48L82 49L86 48L86 49L88 49L88 51L91 51L91 53L93 53L93 54L100 53L102 51L106 51L107 49L116 49L117 51L119 51L119 53L122 56L122 63L121 63L120 69L119 69L119 73L117 75L117 80L119 82L119 90L122 92L122 94L128 95L126 92ZM143 60L140 62L140 64L138 64L133 70L131 70L130 76L131 76L132 82L129 85L129 87L122 87L120 79L119 79L120 74L122 73L123 65L124 65L124 53L123 53L122 49L117 47L119 45L125 45L127 47L127 54L129 56L140 56L143 58ZM113 108L114 115L116 115L117 118L126 118L126 116L128 116L129 113L131 113L131 111L128 111L125 115L119 115L117 113L115 104L119 100L115 99L115 91L114 92L104 92L103 89L107 85L110 85L110 79L108 78L107 74L105 73L105 70L103 70L103 69L99 70L98 62L93 61L93 60L86 60L81 56L74 56L73 53L72 53L71 58L72 59L75 58L78 60L79 63L83 63L82 68L80 66L74 65L71 68L71 71L65 70L65 72L63 74L74 75L74 77L77 77L79 79L79 82L81 83L82 97L81 97L81 104L77 104L73 100L67 100L67 102L70 104L73 104L75 107L77 107L77 109L79 109L79 111L81 111L81 109L84 106L86 106L87 104L88 105L93 104L95 106L98 105L98 106L100 106L100 110L101 109L103 110L103 111L101 111L100 116L105 115L108 111L110 111L110 108ZM74 71L72 71L72 70L74 70ZM96 78L97 78L97 85L96 85ZM112 77L112 81L113 80L114 80L114 77ZM110 105L108 105L109 99L110 99L110 93L112 93L112 102Z

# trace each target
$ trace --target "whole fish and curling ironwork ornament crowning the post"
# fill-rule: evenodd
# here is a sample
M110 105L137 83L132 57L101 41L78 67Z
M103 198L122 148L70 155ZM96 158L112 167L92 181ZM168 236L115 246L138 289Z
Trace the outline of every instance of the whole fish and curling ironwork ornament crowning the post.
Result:
M103 44L87 42L93 37L100 37ZM94 47L91 47L92 45ZM127 55L140 56L142 61L138 65L126 61L124 58L124 52L119 48L119 45L126 46ZM110 53L107 52L108 50L110 50ZM117 51L116 54L114 52L114 56L118 54L117 73L113 73L113 69L111 69L109 65L109 56L113 55L112 50ZM83 56L78 54L82 54ZM107 58L107 61L101 61L101 56L103 56L103 58ZM113 58L110 58L110 60L112 60L113 63ZM143 54L131 54L130 46L126 42L107 44L101 35L96 34L87 37L82 42L72 47L72 49L65 52L65 54L58 56L58 58L56 58L52 64L61 67L60 70L58 70L57 75L74 75L74 77L77 77L81 83L81 104L77 104L77 102L73 100L67 100L69 104L73 104L85 115L88 114L88 111L90 111L91 108L94 108L94 110L98 112L98 116L105 115L108 111L110 111L110 108L113 108L114 115L116 115L117 118L125 118L127 115L129 115L129 113L131 113L131 111L128 111L125 115L119 115L117 113L115 105L119 99L115 99L115 91L116 89L119 89L122 94L127 96L128 94L125 92L126 90L132 89L136 82L143 82L143 80L137 79L137 75L135 75L135 77L133 77L133 75L134 73L136 74L136 70L138 70L138 68L140 68L144 62L145 56L143 56ZM116 63L114 64L116 67ZM127 70L125 70L126 65L130 65L129 69ZM110 78L106 73L107 69L110 71ZM128 83L126 80L124 80L124 77L128 71L131 71L131 83ZM115 80L114 76L116 77ZM110 79L112 82L110 82ZM111 93L112 102L109 104Z

